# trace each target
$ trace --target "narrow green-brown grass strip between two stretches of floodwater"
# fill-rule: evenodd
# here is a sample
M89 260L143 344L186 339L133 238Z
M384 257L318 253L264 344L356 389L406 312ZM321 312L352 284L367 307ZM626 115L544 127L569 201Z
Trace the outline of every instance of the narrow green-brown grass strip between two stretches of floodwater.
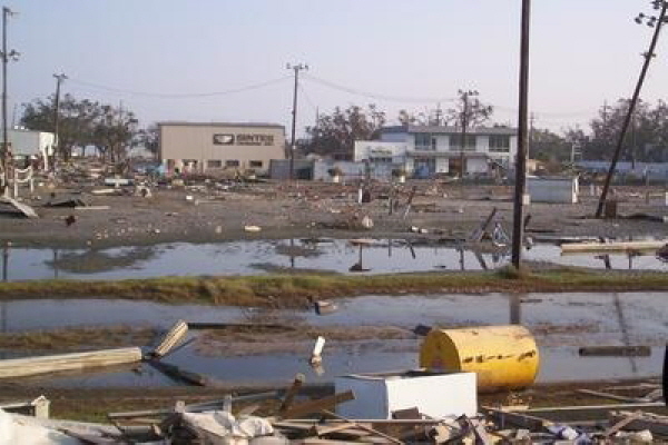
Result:
M667 290L668 274L577 268L392 275L165 277L117 281L40 280L0 284L0 299L124 298L173 304L303 307L308 297L514 291Z

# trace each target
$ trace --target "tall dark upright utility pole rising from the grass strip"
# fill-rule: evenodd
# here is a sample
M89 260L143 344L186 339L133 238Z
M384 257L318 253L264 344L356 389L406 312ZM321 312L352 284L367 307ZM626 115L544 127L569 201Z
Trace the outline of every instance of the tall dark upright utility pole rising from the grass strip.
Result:
M522 263L523 197L527 181L527 146L529 145L529 31L531 0L522 0L522 31L520 38L520 103L518 112L518 154L515 160L515 189L512 221L512 265Z

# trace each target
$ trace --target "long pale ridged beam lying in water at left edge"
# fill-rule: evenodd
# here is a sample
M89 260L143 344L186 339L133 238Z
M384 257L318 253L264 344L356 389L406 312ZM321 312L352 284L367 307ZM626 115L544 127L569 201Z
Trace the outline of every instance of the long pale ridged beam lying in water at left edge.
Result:
M82 370L139 363L140 360L141 349L138 347L11 358L0 360L0 378L27 377L62 370Z

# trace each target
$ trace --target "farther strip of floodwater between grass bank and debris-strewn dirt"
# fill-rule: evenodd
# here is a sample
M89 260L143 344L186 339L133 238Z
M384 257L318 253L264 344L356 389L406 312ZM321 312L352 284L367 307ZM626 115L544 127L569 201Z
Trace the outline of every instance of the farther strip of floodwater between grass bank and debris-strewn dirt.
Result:
M299 239L215 244L174 243L109 249L1 249L1 279L124 279L161 276L256 275L312 270L351 273L362 259L364 274L494 269L510 261L509 251L478 253L452 246L413 246L405 240L374 240L363 248L347 240ZM667 270L654 255L561 256L554 245L525 249L525 260L610 269Z

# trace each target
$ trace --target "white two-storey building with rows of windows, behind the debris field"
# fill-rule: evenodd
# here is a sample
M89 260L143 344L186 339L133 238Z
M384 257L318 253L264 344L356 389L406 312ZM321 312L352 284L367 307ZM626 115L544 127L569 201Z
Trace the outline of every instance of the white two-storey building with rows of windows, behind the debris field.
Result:
M471 128L462 149L456 127L396 126L380 131L380 140L356 141L355 161L374 167L402 166L418 177L434 174L489 174L492 166L510 168L518 147L517 130L507 127Z

